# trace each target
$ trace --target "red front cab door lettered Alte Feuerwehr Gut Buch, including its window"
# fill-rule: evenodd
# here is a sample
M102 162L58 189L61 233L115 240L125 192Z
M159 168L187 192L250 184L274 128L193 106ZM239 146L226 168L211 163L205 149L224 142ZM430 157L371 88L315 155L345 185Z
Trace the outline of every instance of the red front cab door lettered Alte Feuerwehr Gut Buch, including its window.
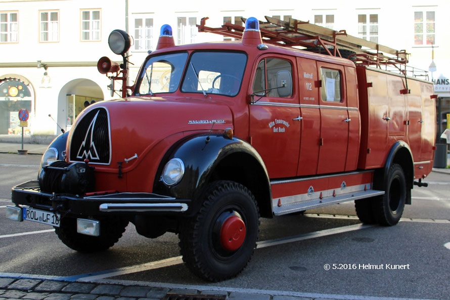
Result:
M301 117L294 74L295 58L271 55L262 56L253 72L250 142L270 178L297 175Z

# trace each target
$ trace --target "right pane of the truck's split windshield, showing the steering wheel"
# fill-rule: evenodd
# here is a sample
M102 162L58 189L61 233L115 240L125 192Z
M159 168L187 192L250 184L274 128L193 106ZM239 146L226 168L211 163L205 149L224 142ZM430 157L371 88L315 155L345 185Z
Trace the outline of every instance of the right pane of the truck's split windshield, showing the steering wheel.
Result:
M195 52L186 68L182 92L236 96L246 63L243 53Z

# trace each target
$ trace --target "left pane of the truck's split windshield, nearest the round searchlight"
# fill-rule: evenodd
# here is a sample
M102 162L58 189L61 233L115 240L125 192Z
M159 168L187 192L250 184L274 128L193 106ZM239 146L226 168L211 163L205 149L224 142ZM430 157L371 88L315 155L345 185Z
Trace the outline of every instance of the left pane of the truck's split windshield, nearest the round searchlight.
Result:
M178 89L188 53L171 53L150 58L142 72L138 95L173 93Z

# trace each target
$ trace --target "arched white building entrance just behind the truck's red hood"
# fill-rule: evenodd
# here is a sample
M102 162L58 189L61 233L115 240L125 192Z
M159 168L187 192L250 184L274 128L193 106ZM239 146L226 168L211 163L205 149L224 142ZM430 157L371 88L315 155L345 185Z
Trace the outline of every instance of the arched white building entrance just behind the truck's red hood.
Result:
M99 85L90 79L74 79L67 82L58 96L58 124L70 130L75 118L84 109L84 102L103 101Z

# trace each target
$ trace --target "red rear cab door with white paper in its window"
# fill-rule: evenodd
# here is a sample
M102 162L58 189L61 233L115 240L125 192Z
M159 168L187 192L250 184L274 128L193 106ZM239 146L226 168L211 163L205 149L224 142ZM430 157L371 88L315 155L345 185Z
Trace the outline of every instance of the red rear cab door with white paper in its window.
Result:
M323 62L317 65L321 77L321 133L317 174L343 172L351 122L347 112L344 67Z

